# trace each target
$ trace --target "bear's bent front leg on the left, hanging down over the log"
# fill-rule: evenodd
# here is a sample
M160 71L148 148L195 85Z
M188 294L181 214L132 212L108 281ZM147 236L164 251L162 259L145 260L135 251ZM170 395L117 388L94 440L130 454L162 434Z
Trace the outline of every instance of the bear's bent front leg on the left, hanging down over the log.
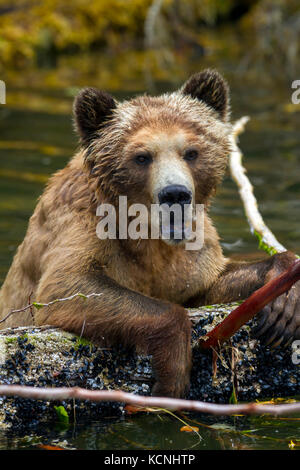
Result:
M184 396L191 370L191 322L183 307L123 288L104 275L72 273L68 278L63 270L43 276L37 300L48 303L77 292L102 295L38 310L37 324L57 326L100 344L134 346L153 357L152 393Z

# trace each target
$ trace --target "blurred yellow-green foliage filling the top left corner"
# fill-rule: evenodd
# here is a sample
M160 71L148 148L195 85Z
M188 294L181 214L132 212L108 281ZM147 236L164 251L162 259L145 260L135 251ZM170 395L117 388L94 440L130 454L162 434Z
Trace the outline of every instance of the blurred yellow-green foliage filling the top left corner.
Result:
M3 12L0 5L0 61L22 65L70 47L120 44L142 34L150 4L151 0L12 0L7 12L8 5L2 5Z

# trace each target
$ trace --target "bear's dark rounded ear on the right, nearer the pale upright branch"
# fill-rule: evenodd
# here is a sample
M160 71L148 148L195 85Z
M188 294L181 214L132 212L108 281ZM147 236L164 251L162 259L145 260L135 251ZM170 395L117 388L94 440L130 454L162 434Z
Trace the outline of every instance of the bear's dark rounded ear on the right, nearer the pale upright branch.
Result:
M229 87L216 70L204 70L192 75L181 88L181 93L197 98L213 108L223 121L229 111Z

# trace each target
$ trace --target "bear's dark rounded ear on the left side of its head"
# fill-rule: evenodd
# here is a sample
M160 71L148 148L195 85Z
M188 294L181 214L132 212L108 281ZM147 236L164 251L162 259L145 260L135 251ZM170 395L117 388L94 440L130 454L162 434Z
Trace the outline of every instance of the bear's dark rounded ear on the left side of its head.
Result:
M89 144L115 108L115 100L105 91L89 87L79 92L74 101L73 113L75 128L84 145Z

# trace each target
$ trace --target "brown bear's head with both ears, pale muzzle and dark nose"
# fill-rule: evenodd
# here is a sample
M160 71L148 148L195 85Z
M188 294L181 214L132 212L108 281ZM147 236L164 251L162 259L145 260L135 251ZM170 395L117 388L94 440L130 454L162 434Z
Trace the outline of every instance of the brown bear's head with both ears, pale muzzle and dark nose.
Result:
M85 88L74 102L86 170L97 200L118 204L207 205L230 152L229 97L214 70L178 91L122 103Z

